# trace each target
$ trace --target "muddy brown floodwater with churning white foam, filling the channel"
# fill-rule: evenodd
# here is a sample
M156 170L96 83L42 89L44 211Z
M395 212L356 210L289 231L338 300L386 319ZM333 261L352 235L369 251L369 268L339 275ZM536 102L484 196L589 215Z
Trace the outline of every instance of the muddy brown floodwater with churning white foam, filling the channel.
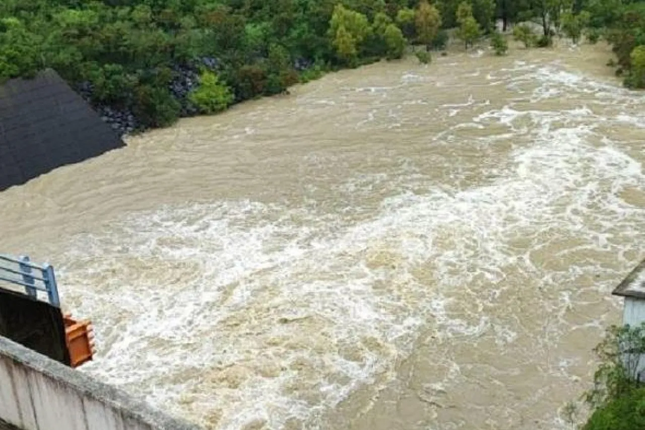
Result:
M0 249L92 319L84 372L208 429L564 429L645 257L609 58L329 74L0 193Z

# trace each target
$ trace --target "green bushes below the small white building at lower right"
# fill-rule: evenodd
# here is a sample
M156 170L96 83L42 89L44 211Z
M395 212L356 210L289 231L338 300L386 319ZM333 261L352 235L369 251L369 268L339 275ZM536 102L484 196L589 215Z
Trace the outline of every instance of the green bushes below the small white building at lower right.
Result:
M592 414L582 430L645 429L645 386L639 362L645 353L645 323L611 327L596 348L600 366L586 394Z

